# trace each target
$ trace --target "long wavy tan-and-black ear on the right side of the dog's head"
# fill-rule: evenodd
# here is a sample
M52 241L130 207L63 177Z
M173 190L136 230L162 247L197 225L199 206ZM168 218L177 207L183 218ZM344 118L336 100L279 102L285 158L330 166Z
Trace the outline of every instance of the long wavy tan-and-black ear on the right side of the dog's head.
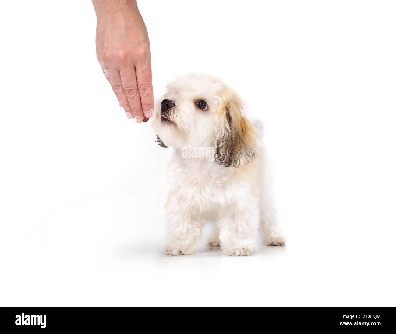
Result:
M255 157L255 127L244 117L242 102L234 92L223 96L219 116L223 129L217 136L215 161L225 167L238 167Z

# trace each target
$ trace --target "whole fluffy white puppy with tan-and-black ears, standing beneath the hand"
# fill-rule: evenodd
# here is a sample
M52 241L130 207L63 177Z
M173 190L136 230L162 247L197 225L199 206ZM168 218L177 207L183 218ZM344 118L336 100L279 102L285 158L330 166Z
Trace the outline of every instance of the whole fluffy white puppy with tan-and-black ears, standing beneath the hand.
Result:
M187 255L213 222L207 244L227 255L251 255L257 236L283 246L268 194L262 123L244 116L238 96L208 76L180 77L157 102L158 145L172 146L167 168L165 252Z

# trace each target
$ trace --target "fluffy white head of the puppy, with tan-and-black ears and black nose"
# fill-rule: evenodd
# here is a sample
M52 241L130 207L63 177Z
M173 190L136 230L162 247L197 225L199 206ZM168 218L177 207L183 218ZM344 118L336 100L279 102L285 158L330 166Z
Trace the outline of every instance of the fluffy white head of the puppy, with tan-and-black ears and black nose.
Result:
M237 167L255 156L255 127L236 93L208 76L179 77L156 101L152 127L158 145L214 147L215 162Z

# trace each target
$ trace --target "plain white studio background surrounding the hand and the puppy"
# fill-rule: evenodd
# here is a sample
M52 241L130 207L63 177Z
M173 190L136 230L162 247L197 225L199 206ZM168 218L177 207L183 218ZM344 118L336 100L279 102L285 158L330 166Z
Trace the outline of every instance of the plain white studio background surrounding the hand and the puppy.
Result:
M162 255L171 148L118 106L96 60L91 2L9 1L0 304L394 306L394 2L139 8L155 96L175 76L209 73L264 121L287 246Z

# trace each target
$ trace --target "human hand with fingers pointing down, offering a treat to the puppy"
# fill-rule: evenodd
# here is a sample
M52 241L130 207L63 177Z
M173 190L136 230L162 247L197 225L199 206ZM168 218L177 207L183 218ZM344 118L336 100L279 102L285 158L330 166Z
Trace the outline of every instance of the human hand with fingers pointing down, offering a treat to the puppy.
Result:
M148 121L154 109L150 42L136 0L92 0L96 54L120 107L136 123Z

